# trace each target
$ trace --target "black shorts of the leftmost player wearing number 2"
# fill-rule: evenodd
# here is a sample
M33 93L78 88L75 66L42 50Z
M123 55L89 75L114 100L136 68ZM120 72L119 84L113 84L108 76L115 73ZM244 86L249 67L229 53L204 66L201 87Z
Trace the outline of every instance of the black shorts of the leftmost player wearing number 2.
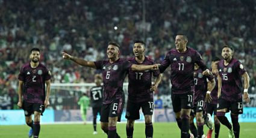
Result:
M41 113L45 112L45 105L39 103L28 103L27 101L23 101L22 109L24 110L25 116L31 116L34 111Z

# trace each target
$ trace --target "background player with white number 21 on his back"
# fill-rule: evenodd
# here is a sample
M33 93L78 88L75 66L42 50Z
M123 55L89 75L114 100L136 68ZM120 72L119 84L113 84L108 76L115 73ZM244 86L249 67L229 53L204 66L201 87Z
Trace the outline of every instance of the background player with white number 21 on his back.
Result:
M91 106L92 106L92 112L93 112L93 134L97 134L96 131L96 120L97 115L101 115L101 106L102 106L102 95L103 95L103 86L102 83L102 77L100 74L95 75L95 84L96 86L93 86L90 89L90 99L91 99Z

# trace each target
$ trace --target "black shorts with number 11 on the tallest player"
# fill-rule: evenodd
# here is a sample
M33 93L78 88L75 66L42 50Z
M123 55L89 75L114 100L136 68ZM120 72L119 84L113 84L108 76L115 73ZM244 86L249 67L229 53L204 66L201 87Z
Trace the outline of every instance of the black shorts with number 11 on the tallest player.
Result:
M185 94L171 94L173 112L180 112L181 109L192 109L193 92Z

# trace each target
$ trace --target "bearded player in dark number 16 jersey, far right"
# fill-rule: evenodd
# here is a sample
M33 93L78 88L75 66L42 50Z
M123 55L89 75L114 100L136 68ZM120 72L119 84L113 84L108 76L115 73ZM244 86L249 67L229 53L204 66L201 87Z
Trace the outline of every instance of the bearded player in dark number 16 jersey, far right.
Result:
M229 137L235 136L237 138L240 133L238 116L243 113L242 93L243 100L246 103L250 102L248 95L249 75L246 73L243 65L237 59L233 58L233 53L233 47L227 45L223 46L223 59L220 60L217 65L219 71L219 75L217 76L217 97L219 98L217 103L217 118L223 125L228 127ZM244 85L242 85L242 77L244 79ZM225 113L229 112L229 110L231 110L233 126L228 122L225 116Z

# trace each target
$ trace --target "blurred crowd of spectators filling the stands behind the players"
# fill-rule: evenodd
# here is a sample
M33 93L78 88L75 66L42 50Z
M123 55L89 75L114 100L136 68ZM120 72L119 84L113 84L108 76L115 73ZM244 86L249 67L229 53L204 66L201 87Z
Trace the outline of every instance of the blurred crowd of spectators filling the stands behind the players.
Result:
M234 46L234 56L250 76L249 92L255 92L255 10L252 0L0 0L0 100L16 100L17 74L29 61L31 47L42 50L52 83L89 83L99 71L64 61L61 52L96 61L106 59L108 41L116 41L126 58L140 39L146 42L146 55L161 62L175 47L176 34L187 35L188 46L201 53L208 67L214 56L221 57L223 44ZM170 94L169 73L163 75L159 95Z

